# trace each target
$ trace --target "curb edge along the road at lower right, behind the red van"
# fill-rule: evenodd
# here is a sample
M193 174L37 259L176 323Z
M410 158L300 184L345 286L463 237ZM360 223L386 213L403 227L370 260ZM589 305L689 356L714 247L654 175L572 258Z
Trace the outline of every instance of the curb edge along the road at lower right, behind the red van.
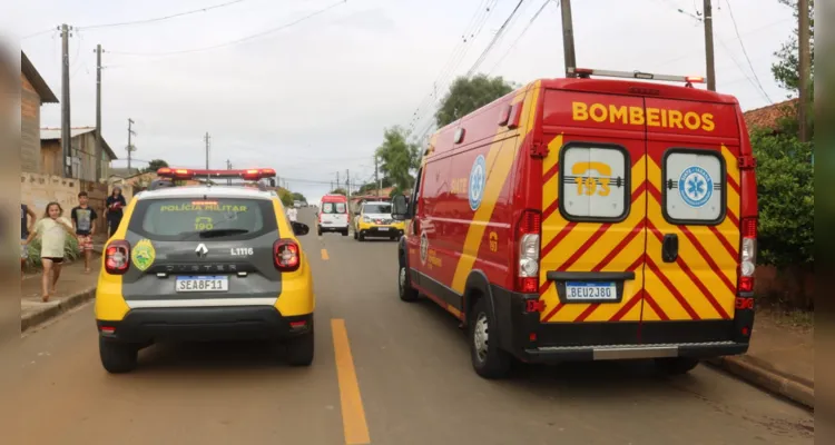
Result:
M764 366L741 357L719 357L705 360L760 388L786 397L812 411L815 409L815 388L784 377Z

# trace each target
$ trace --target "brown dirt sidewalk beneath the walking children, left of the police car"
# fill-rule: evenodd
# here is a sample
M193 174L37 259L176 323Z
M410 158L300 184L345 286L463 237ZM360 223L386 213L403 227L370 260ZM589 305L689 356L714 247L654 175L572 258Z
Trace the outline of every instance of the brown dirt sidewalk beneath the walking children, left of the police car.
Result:
M66 265L58 279L57 295L47 303L41 301L41 274L27 276L20 284L20 332L92 299L100 261L101 257L94 255L90 274L84 273L84 259Z

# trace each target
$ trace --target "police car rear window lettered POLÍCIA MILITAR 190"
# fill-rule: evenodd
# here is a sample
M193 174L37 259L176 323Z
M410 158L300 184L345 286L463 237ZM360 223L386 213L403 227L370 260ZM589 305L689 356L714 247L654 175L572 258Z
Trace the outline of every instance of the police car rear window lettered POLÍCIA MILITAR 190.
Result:
M148 199L139 201L130 230L154 239L252 238L276 229L264 199Z

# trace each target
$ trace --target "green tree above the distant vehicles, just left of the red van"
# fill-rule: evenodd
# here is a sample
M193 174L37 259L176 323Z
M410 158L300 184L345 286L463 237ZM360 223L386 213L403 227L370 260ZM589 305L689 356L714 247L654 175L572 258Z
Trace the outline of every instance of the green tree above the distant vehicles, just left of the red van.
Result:
M409 189L414 182L413 172L421 165L420 148L406 140L407 132L401 127L386 128L383 144L377 148L380 170L392 186Z

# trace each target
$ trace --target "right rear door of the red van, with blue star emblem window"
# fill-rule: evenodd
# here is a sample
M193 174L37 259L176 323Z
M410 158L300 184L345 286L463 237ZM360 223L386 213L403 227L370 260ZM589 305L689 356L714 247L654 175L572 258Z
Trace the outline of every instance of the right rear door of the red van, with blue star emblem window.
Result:
M647 98L641 343L730 340L740 243L736 106Z

